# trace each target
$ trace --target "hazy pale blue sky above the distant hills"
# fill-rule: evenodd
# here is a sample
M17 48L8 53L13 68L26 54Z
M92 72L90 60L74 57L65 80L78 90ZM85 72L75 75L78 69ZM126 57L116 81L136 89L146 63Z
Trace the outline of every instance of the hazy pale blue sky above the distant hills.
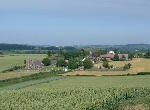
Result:
M150 0L0 0L0 43L150 44Z

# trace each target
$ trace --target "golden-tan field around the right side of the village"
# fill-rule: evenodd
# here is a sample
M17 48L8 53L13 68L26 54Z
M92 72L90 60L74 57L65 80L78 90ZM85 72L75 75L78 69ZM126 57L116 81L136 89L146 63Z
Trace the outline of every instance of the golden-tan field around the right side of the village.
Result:
M132 68L127 71L107 71L107 72L98 72L98 71L75 71L71 73L66 73L65 75L121 75L121 74L136 74L138 72L150 72L150 59L137 58L132 61L115 61L110 62L109 64L116 67L124 66L125 64L131 63ZM94 66L102 66L102 63L95 64Z

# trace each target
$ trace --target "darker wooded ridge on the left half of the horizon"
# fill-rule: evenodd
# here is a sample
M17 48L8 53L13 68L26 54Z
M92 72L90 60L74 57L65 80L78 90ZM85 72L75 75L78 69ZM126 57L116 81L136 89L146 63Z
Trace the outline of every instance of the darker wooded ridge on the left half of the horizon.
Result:
M34 45L21 45L21 44L0 44L0 50L76 50L75 47L65 46L34 46Z

